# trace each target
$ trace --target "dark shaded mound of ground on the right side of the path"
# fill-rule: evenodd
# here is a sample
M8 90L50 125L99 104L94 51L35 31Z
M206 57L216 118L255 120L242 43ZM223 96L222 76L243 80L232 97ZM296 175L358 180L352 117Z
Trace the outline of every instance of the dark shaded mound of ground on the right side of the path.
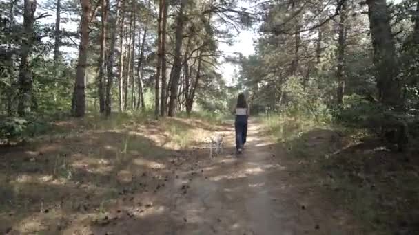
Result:
M419 159L389 150L377 137L358 142L338 131L315 129L283 143L302 168L319 172L318 186L351 210L371 231L419 232ZM307 178L308 179L308 178ZM397 189L397 190L395 190Z

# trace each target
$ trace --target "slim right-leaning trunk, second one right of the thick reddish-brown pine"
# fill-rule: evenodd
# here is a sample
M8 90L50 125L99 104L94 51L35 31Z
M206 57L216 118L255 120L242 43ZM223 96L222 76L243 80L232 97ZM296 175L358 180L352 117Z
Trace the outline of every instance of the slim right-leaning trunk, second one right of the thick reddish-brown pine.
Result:
M107 0L109 5L109 0ZM105 115L107 117L112 113L112 81L114 79L114 63L115 63L115 45L116 45L116 27L119 21L119 12L121 8L121 1L116 2L116 13L114 19L112 19L112 36L110 40L110 49L108 57L108 76L106 80L106 100L105 100Z

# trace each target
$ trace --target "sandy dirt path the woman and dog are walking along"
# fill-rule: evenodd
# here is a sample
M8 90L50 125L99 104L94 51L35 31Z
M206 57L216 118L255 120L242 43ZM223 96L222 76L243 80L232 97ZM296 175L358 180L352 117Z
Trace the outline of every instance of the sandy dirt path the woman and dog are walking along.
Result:
M349 226L345 213L329 205L321 192L293 173L286 153L278 153L278 148L261 137L260 125L249 126L243 155L190 159L185 168L174 172L177 177L167 181L156 195L136 195L150 200L147 212L131 219L119 219L112 225L98 226L94 234L265 235L356 231ZM225 131L230 144L232 131ZM232 148L227 151L231 153ZM133 206L132 211L135 210Z

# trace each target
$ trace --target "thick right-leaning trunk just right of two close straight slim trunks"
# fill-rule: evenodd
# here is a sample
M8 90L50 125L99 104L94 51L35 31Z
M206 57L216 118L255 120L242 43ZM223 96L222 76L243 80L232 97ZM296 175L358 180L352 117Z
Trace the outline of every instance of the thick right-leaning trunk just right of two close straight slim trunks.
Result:
M176 24L176 42L174 49L174 70L172 77L172 85L170 86L170 102L169 102L169 116L174 117L176 115L176 104L178 98L178 83L181 76L182 60L181 60L181 48L183 42L183 24L185 23L185 17L183 16L183 10L185 9L187 1L181 0L181 8L179 9L178 19Z

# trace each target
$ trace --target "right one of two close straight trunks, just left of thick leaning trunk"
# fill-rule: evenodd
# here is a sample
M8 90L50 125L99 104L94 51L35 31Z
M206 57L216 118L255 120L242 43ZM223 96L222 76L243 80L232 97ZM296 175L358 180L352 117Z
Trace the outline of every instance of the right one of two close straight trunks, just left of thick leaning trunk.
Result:
M166 62L166 32L167 32L167 2L163 0L163 23L161 25L161 107L160 115L165 117L167 112L167 62Z

